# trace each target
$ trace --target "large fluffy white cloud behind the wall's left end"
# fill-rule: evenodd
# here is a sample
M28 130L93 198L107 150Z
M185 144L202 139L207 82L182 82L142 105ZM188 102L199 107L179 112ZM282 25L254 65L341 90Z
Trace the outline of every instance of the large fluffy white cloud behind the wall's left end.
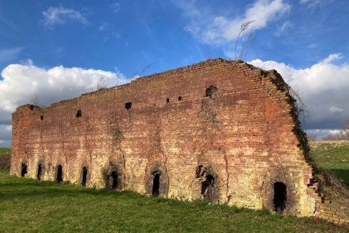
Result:
M104 77L108 87L127 81L116 68L115 72L63 66L46 70L31 61L6 66L1 76L4 79L0 81L0 140L6 146L11 145L11 113L19 105L33 100L49 105L78 97L96 90L100 77Z

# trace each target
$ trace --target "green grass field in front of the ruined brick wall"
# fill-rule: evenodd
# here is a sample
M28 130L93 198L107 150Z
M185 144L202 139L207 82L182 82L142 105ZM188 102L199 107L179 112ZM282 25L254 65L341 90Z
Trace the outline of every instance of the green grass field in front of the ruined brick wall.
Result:
M348 231L314 217L85 189L0 172L0 232Z

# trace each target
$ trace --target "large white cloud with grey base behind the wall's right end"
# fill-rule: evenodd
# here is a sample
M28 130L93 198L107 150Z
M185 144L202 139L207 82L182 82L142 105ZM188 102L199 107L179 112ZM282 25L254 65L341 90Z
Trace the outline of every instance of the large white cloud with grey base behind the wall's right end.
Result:
M308 133L323 136L338 132L336 130L349 118L349 65L333 64L337 60L340 60L339 53L330 54L323 61L304 69L259 59L250 63L265 70L276 69L281 73L285 81L298 90L307 105Z

